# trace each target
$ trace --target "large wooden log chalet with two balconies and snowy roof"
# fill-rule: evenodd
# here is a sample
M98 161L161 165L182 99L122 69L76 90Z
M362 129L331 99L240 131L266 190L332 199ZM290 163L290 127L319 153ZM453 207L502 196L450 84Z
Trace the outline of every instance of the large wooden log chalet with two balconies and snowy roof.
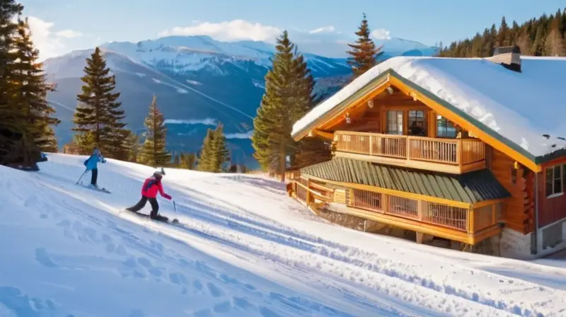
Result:
M488 81L531 78L521 70L515 48L495 53L489 59L394 57L352 81L296 123L295 140L327 139L333 144L333 159L295 171L287 184L289 195L313 212L326 209L415 231L417 242L438 237L469 248L489 239L499 254L516 258L562 248L566 151L549 141L548 154L532 154L519 137L509 137L511 128L496 131L482 121L485 113L470 110L473 103L490 110L490 104L482 103L493 89ZM427 61L434 67L415 66ZM529 59L527 65L536 61ZM566 59L555 62L566 65ZM435 74L458 65L462 71L453 71L453 78ZM485 85L465 87L483 69ZM474 91L482 98L458 100L444 88L431 88L443 83L451 85L451 92ZM502 85L502 93L521 88L492 85ZM561 92L547 88L519 93L536 97ZM521 112L513 104L503 106L511 114Z

